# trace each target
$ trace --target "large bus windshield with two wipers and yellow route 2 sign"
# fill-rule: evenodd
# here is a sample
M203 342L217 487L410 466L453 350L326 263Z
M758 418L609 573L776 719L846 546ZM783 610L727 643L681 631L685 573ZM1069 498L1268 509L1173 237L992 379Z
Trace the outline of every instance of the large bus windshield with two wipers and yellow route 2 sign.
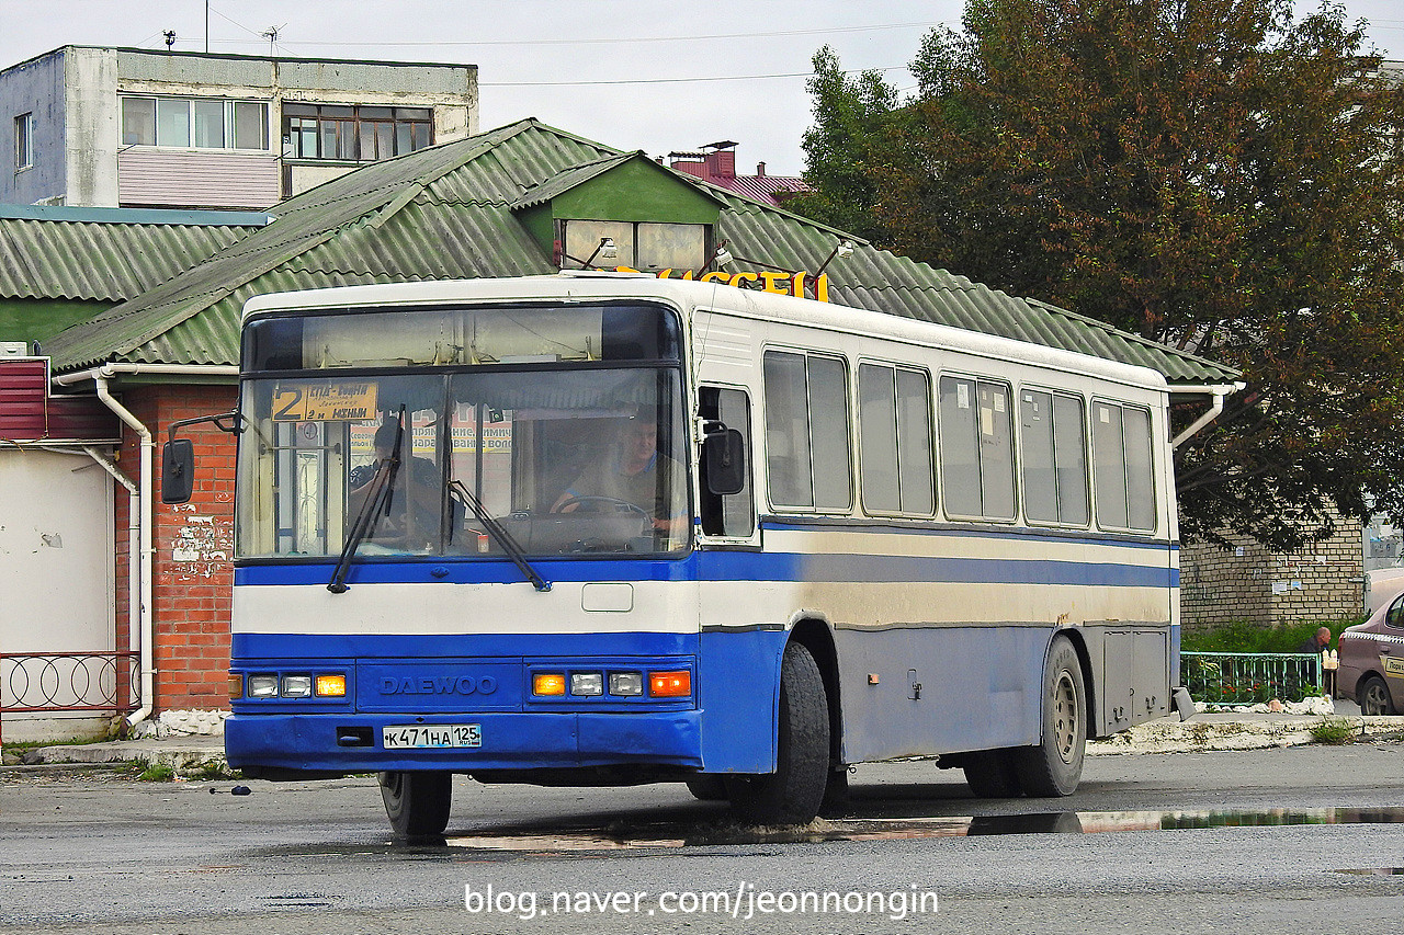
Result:
M688 545L675 364L406 371L246 376L239 557L658 555Z

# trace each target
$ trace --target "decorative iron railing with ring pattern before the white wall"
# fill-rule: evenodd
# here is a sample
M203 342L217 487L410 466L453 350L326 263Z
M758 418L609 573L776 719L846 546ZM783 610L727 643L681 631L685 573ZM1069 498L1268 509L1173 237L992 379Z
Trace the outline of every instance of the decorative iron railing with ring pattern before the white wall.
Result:
M136 710L140 667L140 653L0 653L0 715Z

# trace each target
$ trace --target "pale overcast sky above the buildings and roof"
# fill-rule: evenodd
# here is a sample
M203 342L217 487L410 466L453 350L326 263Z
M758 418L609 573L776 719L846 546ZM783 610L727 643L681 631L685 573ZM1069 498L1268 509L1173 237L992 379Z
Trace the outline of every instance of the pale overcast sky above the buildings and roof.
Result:
M1299 3L1314 8L1316 3ZM847 69L906 63L963 0L211 0L208 49L479 66L482 126L524 117L651 156L740 143L737 168L799 174L804 77L821 45ZM1400 0L1346 0L1404 59ZM60 45L206 49L205 0L0 0L0 67Z

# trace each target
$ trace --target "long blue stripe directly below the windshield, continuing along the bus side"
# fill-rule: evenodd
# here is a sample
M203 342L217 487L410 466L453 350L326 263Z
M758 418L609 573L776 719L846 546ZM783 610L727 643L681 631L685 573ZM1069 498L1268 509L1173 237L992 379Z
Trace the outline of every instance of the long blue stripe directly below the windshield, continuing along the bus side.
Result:
M696 552L677 562L600 559L536 560L548 581L870 581L943 584L1071 584L1082 587L1179 587L1179 570L1144 564L1053 559L962 559L793 552ZM326 584L333 566L267 564L234 569L236 585ZM347 584L511 584L521 571L507 560L434 557L359 562Z

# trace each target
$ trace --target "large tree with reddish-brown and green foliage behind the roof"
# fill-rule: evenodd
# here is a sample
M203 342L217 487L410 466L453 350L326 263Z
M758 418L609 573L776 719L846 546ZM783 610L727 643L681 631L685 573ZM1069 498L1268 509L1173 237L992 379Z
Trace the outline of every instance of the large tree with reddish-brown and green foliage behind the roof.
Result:
M913 258L1243 369L1177 452L1186 535L1286 550L1331 505L1404 517L1404 87L1362 42L1290 0L972 0L962 32L927 35L900 117L865 114L848 153L872 195L845 211Z

